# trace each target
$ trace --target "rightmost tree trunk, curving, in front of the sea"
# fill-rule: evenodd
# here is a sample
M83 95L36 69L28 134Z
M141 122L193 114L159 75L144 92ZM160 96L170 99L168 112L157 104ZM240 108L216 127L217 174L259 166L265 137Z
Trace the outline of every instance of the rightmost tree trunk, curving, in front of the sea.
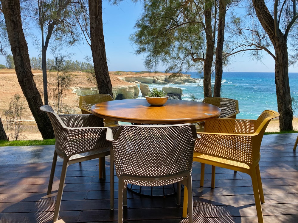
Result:
M275 50L275 87L277 109L280 113L280 131L293 130L293 110L288 76L288 47L287 40L274 22L264 0L253 0L257 17L267 32Z

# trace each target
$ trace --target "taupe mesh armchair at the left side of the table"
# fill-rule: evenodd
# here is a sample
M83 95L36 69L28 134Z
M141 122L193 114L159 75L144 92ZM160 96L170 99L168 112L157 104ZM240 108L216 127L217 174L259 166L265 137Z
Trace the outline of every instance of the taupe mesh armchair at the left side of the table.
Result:
M52 192L57 157L60 156L63 159L53 218L53 221L56 222L59 216L67 167L70 164L95 158L103 158L104 161L105 156L110 155L109 143L106 140L108 127L97 127L102 125L102 120L100 123L100 118L93 114L58 115L49 105L41 106L40 109L48 114L56 140L47 194ZM100 161L99 171L100 176L105 176L105 162Z

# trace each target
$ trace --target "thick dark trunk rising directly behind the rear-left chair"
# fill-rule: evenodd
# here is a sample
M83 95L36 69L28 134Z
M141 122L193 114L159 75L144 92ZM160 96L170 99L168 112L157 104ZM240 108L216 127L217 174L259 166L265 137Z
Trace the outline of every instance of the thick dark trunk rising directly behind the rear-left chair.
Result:
M113 97L112 83L109 75L105 40L103 36L102 1L89 0L90 41L94 64L94 73L100 94L110 94Z

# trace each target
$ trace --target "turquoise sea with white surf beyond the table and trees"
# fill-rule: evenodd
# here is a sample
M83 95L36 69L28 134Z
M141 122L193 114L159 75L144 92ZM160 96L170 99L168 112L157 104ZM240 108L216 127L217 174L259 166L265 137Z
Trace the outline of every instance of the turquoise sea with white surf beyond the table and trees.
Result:
M149 88L162 88L165 86L178 87L183 90L183 100L191 100L191 94L198 101L204 99L203 81L197 72L189 72L197 83L185 84L148 84ZM298 73L289 73L291 97L298 100ZM237 118L256 119L264 110L277 111L277 99L275 90L274 73L252 73L252 72L224 72L222 77L221 97L233 98L239 101L240 113ZM142 98L141 92L139 98ZM294 113L298 115L298 110Z

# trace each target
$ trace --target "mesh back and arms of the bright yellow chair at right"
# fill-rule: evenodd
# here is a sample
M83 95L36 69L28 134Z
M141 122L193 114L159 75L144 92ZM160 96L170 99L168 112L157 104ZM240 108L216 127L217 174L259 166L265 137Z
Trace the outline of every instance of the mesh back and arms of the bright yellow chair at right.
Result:
M264 132L270 120L278 116L278 112L265 110L260 114L257 120L207 120L205 122L206 136L208 134L214 134L213 141L207 140L207 143L213 143L213 149L209 149L208 151L201 150L200 152L211 153L214 156L237 160L251 165L259 161L260 147ZM220 135L221 133L224 135ZM204 140L204 134L201 134L201 136ZM204 144L204 142L199 143Z

